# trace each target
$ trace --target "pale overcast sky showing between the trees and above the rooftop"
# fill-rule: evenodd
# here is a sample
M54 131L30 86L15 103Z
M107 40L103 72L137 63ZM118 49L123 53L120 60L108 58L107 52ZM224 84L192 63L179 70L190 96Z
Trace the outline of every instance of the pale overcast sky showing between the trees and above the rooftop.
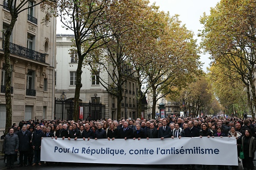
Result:
M178 14L179 20L182 24L185 24L188 30L192 30L195 34L194 38L198 39L198 44L200 43L200 38L197 37L198 30L202 30L203 25L200 24L200 16L203 12L206 15L210 14L210 7L214 7L219 0L150 0L150 3L156 2L161 11L169 11L170 15ZM61 27L60 21L57 19L57 33L72 33L71 31L66 31ZM206 72L206 67L209 67L210 59L209 54L200 54L200 61L203 64L203 70Z

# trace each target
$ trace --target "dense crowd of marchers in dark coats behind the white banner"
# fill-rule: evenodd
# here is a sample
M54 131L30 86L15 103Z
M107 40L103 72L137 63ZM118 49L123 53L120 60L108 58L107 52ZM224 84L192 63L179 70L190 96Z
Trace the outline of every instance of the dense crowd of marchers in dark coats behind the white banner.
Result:
M51 165L42 162L41 140L43 137L67 138L68 140L97 139L147 139L181 137L235 137L237 140L237 161L239 152L244 152L242 164L244 170L253 170L256 151L256 122L251 119L198 117L198 118L157 118L153 120L105 119L102 121L65 121L65 120L29 120L13 124L5 136L3 149L7 157L7 168L13 168L15 155L19 151L18 167L28 165ZM33 161L34 158L34 161ZM205 164L205 163L204 163ZM204 170L209 165L198 165ZM195 169L195 165L174 165L174 168ZM228 166L218 166L228 169ZM237 166L232 166L236 170Z

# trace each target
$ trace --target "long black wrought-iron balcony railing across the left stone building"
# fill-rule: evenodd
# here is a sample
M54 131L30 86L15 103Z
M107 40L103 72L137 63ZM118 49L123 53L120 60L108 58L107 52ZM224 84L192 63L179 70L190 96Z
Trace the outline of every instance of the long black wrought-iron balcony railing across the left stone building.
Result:
M3 41L3 48L4 48L4 41ZM17 44L10 43L10 53L25 57L31 60L45 63L45 54L19 46Z

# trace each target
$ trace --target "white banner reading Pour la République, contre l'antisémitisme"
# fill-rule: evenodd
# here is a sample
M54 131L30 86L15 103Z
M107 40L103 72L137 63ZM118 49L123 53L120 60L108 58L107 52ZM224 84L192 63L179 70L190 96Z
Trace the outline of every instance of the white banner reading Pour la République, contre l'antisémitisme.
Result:
M102 164L238 165L233 137L68 140L43 138L41 161Z

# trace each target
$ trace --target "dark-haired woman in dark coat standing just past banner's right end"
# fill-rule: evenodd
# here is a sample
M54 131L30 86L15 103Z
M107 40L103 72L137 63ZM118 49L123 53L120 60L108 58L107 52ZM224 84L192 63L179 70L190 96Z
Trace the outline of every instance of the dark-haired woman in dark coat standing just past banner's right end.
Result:
M238 140L242 144L242 150L244 151L243 167L247 170L253 170L253 158L256 151L256 139L253 137L250 129L245 130L245 136Z

